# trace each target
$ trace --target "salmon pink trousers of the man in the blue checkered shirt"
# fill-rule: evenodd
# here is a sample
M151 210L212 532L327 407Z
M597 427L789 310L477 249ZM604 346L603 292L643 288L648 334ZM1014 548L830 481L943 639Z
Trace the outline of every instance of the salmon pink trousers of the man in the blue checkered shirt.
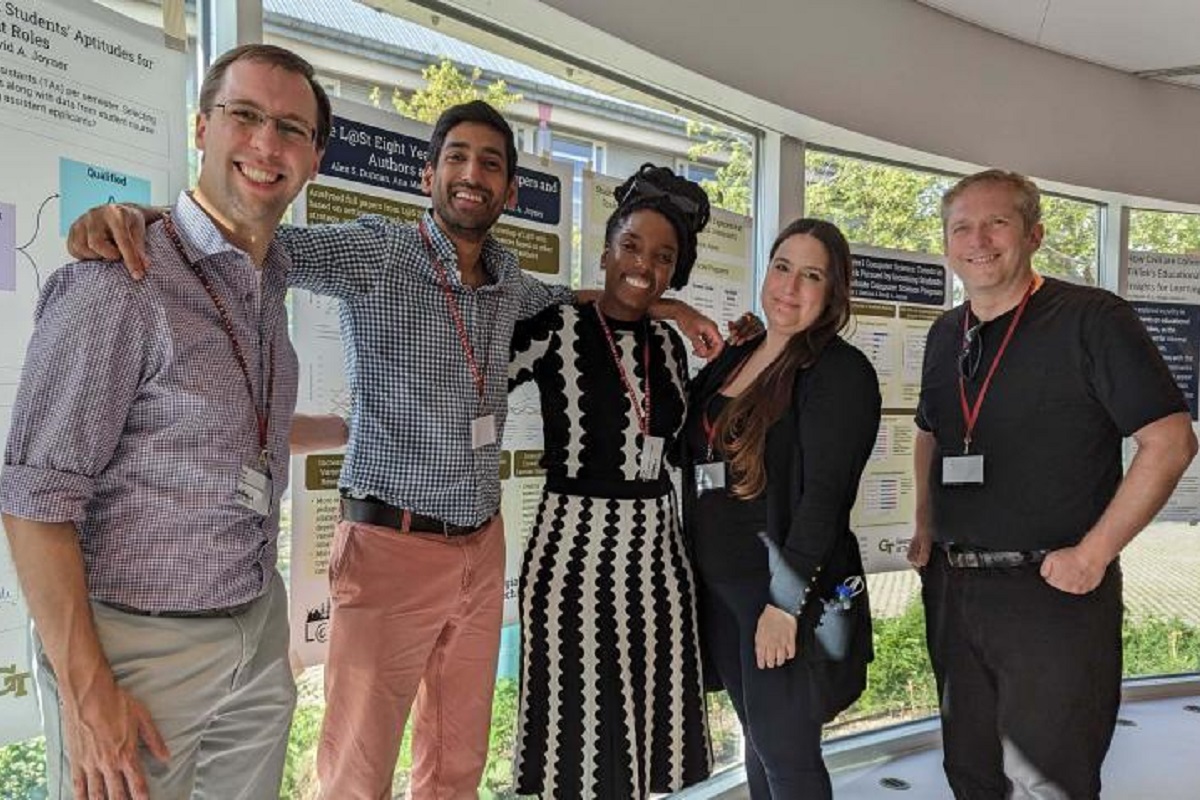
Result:
M414 800L476 798L504 607L504 523L469 536L340 522L317 774L326 800L390 800L413 720Z

